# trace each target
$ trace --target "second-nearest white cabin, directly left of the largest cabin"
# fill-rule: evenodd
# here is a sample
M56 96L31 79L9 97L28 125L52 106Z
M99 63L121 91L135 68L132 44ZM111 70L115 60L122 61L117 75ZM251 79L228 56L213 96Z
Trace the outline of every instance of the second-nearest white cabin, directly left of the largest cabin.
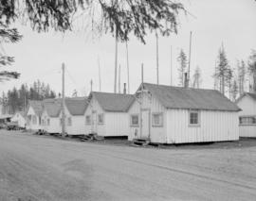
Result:
M102 137L128 137L130 108L135 98L131 94L91 92L85 110L86 134Z

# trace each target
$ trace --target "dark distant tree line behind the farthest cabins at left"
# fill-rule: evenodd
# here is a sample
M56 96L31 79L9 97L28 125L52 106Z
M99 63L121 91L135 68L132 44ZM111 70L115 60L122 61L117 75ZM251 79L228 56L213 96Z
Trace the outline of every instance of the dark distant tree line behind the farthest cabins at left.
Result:
M14 114L16 111L25 111L28 100L43 100L46 98L55 98L56 93L50 89L50 86L40 80L34 81L31 86L22 84L19 89L13 88L7 93L3 92L0 98L3 106L2 112Z

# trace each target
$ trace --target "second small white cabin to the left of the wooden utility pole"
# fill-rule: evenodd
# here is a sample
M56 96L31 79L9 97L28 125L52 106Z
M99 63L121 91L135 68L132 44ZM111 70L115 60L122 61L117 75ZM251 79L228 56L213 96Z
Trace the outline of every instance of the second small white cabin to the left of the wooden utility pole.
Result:
M27 129L41 129L41 115L43 111L43 101L29 100L27 107Z

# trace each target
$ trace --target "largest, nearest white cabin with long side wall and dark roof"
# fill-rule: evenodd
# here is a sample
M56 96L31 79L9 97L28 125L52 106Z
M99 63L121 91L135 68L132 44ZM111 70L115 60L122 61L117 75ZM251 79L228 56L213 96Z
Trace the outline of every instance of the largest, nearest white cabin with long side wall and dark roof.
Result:
M136 97L129 109L129 141L147 139L157 143L191 143L239 140L239 108L220 92L143 83Z

